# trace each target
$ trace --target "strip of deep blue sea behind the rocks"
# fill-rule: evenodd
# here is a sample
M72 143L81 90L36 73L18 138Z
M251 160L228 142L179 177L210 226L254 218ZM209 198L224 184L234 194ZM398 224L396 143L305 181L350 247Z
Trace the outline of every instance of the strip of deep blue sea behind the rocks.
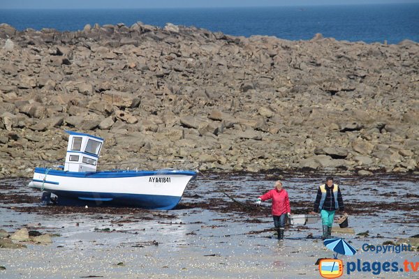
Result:
M316 33L337 40L419 42L419 3L287 6L260 8L172 8L30 10L1 9L0 22L16 29L80 30L85 24L135 22L163 27L167 22L221 31L235 36L268 35L309 40Z

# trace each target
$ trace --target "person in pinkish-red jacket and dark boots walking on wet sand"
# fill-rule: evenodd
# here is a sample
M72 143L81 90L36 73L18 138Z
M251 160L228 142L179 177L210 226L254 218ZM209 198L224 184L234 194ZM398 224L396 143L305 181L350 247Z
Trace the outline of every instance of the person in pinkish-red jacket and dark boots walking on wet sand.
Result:
M288 193L282 188L282 182L275 182L275 188L265 195L258 197L256 204L260 205L265 200L272 199L272 216L274 217L275 229L278 232L279 241L284 241L284 229L286 216L291 215L290 200Z

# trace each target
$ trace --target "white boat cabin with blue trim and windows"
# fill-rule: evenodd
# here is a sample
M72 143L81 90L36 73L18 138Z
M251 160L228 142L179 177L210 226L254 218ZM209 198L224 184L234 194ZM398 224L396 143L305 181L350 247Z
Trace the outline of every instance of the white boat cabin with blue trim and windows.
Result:
M96 172L99 153L103 144L101 137L66 131L68 146L64 171Z

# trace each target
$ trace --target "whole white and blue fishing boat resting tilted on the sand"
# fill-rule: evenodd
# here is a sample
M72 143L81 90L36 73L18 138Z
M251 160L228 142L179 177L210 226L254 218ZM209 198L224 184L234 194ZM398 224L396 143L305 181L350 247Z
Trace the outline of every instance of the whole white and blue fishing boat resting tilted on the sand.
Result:
M97 171L104 140L66 131L68 146L64 165L36 167L29 187L56 195L57 204L133 206L142 209L173 209L196 170L157 169Z

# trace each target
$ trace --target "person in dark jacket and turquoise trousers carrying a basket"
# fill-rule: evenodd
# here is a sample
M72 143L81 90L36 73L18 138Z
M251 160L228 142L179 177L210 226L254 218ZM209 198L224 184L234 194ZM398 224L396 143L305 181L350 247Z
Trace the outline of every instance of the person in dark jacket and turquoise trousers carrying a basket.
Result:
M314 209L311 214L316 214L320 210L321 223L323 227L322 239L330 239L332 235L333 218L339 209L344 213L344 200L342 199L340 188L333 183L332 177L326 178L326 183L318 186Z

